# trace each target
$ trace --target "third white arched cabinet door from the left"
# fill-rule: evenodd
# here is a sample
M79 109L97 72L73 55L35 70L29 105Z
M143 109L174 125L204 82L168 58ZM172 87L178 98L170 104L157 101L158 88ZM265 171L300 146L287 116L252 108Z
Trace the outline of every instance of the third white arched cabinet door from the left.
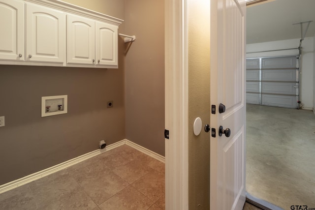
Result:
M67 62L95 64L95 21L67 15Z

